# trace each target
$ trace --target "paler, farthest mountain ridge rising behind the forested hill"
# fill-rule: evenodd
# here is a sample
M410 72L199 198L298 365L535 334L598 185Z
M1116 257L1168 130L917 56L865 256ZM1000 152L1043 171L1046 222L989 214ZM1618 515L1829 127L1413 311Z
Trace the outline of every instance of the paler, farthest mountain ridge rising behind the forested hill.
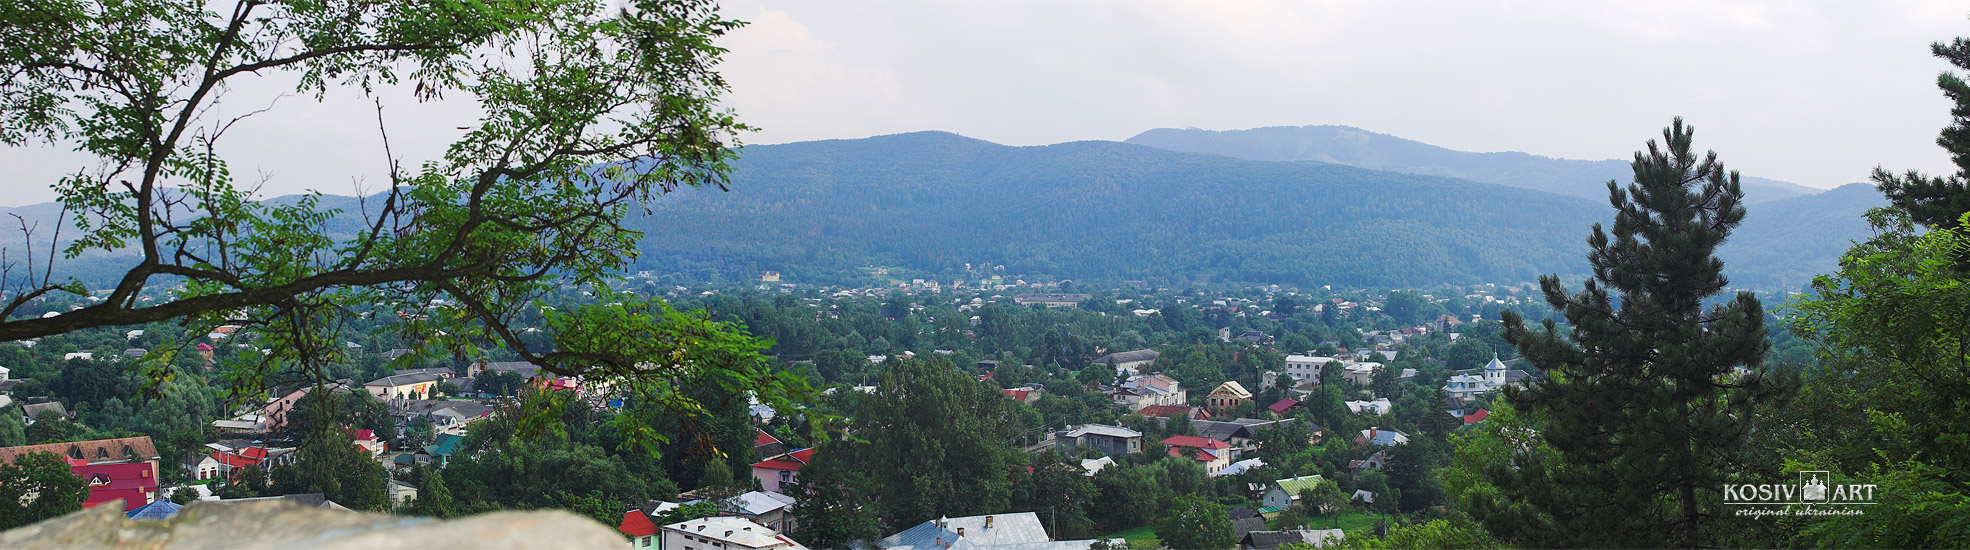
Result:
M1369 170L1444 175L1608 201L1608 179L1627 183L1627 160L1564 160L1523 152L1456 152L1351 126L1271 126L1251 130L1158 128L1129 144L1243 160L1312 160ZM1743 177L1745 203L1818 193L1765 177Z

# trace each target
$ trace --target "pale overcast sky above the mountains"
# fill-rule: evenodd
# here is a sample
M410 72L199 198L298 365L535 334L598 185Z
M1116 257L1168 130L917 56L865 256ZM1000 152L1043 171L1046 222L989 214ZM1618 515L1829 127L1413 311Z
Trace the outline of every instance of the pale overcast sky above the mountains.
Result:
M749 144L948 130L1001 144L1149 128L1347 124L1454 150L1629 158L1671 116L1745 175L1834 187L1873 166L1952 172L1935 146L1964 2L725 2L729 104ZM246 83L227 108L266 106ZM461 101L386 97L408 164L469 126ZM288 97L223 152L266 195L378 187L374 104ZM0 150L0 205L89 166ZM364 179L366 177L366 179Z

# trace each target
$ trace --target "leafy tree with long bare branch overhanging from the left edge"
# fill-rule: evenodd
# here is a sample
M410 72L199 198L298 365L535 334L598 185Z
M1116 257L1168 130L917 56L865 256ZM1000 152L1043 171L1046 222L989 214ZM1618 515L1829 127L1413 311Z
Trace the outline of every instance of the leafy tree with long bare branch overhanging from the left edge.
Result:
M0 278L0 341L89 327L244 319L268 355L234 378L264 388L284 375L325 380L341 357L331 327L372 304L455 304L390 325L420 347L502 347L558 377L615 384L672 414L695 402L668 388L703 378L786 406L802 380L770 377L751 337L727 323L617 296L640 233L624 217L680 187L725 187L745 124L719 106L727 83L713 37L739 26L703 0L435 4L388 2L37 2L0 8L10 30L0 73L0 144L75 146L97 170L53 181L79 235L26 235L77 258L120 250L100 302L57 315L16 315L41 300L83 298L55 262ZM404 162L378 140L386 189L355 211L321 195L254 201L234 181L221 118L229 85L297 77L376 99L461 97L485 112L443 158ZM398 87L402 85L402 87ZM276 106L278 108L278 106ZM355 162L355 160L351 160ZM331 221L347 221L331 223ZM561 286L605 300L528 308ZM410 311L406 311L410 313ZM546 341L522 339L520 321ZM185 333L203 333L191 329ZM144 367L152 380L165 375ZM624 426L648 447L660 434Z

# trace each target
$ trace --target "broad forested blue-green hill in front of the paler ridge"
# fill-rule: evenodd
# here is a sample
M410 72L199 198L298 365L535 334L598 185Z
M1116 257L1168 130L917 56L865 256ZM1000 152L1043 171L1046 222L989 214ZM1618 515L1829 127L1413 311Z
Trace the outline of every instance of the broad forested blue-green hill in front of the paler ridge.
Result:
M640 268L705 276L963 264L1074 280L1422 286L1584 268L1606 207L1527 189L1117 142L944 132L745 148L729 193L650 203Z

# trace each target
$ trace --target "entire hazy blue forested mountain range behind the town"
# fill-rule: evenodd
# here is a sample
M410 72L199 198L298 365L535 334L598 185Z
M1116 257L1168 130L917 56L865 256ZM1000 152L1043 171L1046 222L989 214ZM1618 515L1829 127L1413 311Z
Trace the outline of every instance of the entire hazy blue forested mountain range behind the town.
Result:
M646 233L634 270L676 282L776 270L790 282L873 284L871 266L904 278L1005 266L1156 286L1576 282L1588 227L1611 213L1606 181L1627 181L1625 170L1344 126L1022 148L914 132L747 146L731 191L682 189L628 223ZM1738 286L1799 290L1830 272L1850 241L1866 239L1862 213L1883 203L1858 183L1808 193L1745 181L1759 201L1720 248ZM323 203L353 211L353 201Z

